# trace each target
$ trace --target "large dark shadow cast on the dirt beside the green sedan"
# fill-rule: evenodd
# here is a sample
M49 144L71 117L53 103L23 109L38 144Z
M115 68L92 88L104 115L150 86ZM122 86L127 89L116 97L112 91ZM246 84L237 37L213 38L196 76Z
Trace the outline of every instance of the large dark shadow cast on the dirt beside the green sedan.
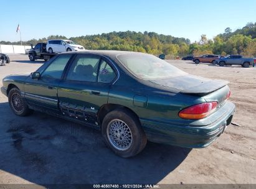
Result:
M0 103L0 169L32 183L158 183L191 149L148 142L123 159L106 147L99 131L47 114L14 115Z

